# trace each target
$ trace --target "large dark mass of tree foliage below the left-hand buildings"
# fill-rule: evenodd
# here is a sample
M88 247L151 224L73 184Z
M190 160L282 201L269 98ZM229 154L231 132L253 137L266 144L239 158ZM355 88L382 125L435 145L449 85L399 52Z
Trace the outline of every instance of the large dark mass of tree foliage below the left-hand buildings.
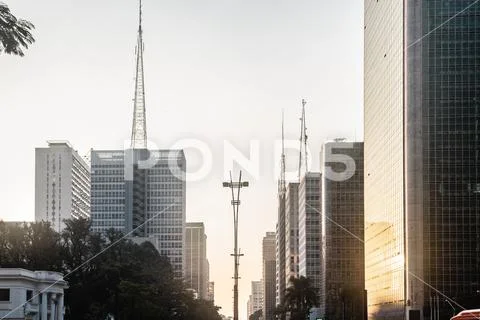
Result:
M194 299L168 259L110 230L89 231L87 220L66 220L62 234L45 222L0 221L0 267L62 272L67 320L220 320L212 302Z

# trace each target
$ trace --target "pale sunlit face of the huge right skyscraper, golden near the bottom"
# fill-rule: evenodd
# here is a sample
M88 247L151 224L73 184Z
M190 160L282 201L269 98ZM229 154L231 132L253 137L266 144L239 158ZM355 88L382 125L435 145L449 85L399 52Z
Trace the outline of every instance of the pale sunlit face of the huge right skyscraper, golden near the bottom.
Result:
M404 319L403 1L365 1L365 286L370 319Z

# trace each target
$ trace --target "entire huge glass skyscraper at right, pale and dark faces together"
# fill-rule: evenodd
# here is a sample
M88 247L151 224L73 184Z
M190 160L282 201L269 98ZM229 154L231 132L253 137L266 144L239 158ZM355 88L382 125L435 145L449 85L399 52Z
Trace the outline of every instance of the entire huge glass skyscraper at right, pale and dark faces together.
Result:
M480 3L364 7L369 317L448 319L480 299Z

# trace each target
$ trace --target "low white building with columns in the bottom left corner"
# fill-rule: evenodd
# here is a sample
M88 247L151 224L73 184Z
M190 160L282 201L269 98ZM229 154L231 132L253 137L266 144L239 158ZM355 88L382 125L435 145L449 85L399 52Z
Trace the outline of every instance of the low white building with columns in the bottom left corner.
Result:
M0 319L63 320L63 275L0 268Z

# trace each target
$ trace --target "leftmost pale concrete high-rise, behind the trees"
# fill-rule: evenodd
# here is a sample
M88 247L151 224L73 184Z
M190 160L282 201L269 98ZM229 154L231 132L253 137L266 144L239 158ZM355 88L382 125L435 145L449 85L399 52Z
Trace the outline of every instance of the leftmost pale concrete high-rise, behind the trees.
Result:
M61 232L63 220L90 217L90 168L67 141L35 148L35 221Z

